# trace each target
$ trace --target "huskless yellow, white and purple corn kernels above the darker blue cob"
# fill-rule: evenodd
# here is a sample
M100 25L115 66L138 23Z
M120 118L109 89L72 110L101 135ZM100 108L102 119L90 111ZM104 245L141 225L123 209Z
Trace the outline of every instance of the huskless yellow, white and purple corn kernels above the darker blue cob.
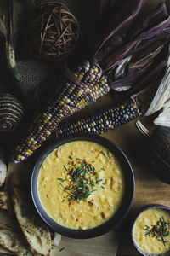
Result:
M17 147L14 162L26 160L40 148L59 123L78 110L95 102L110 90L108 79L94 61L84 61L73 72L65 71L66 78L59 94L34 119L27 136Z

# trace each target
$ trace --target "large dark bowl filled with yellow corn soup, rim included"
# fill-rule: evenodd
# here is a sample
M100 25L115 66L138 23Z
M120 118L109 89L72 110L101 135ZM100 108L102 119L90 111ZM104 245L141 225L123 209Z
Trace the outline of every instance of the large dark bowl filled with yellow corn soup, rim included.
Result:
M51 144L31 177L37 212L51 228L74 238L100 236L120 224L133 194L133 170L126 155L94 135Z

